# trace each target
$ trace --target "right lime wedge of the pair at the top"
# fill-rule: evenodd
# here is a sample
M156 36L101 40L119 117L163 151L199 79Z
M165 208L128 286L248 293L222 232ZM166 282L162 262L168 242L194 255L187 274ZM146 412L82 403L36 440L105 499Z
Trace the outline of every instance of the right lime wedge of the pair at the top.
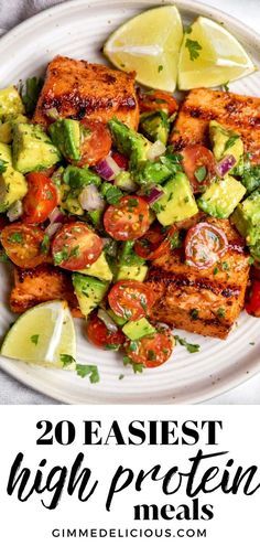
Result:
M216 87L256 69L248 54L224 26L199 17L183 38L178 88Z

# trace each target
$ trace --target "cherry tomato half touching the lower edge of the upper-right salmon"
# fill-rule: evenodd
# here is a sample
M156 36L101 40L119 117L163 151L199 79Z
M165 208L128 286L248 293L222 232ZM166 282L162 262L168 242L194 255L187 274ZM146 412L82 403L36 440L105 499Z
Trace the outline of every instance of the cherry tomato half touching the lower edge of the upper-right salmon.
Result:
M215 176L215 158L210 150L202 144L186 146L181 154L183 169L193 186L199 193L209 185Z

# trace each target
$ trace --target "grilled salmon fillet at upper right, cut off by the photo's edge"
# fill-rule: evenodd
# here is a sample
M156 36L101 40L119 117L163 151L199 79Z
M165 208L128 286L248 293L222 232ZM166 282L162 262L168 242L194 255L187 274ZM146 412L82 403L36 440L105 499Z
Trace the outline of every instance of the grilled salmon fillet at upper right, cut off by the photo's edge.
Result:
M187 144L208 146L208 124L216 120L239 133L246 152L260 163L260 98L235 93L193 89L183 101L170 137L175 150Z

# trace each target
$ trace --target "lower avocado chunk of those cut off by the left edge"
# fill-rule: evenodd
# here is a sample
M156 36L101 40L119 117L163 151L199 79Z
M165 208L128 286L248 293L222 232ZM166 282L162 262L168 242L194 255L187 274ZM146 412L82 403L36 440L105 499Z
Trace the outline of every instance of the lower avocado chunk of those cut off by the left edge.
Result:
M12 167L11 148L0 143L0 212L6 212L28 192L24 176Z

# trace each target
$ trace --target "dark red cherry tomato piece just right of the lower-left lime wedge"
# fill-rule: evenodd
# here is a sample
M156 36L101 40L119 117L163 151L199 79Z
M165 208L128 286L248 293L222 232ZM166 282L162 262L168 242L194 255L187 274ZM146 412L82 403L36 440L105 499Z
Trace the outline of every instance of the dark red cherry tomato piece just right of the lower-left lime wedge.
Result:
M115 345L115 350L119 349L126 341L126 336L118 330L117 332L110 332L106 324L96 315L93 314L87 323L86 333L88 340L97 347L111 350Z

